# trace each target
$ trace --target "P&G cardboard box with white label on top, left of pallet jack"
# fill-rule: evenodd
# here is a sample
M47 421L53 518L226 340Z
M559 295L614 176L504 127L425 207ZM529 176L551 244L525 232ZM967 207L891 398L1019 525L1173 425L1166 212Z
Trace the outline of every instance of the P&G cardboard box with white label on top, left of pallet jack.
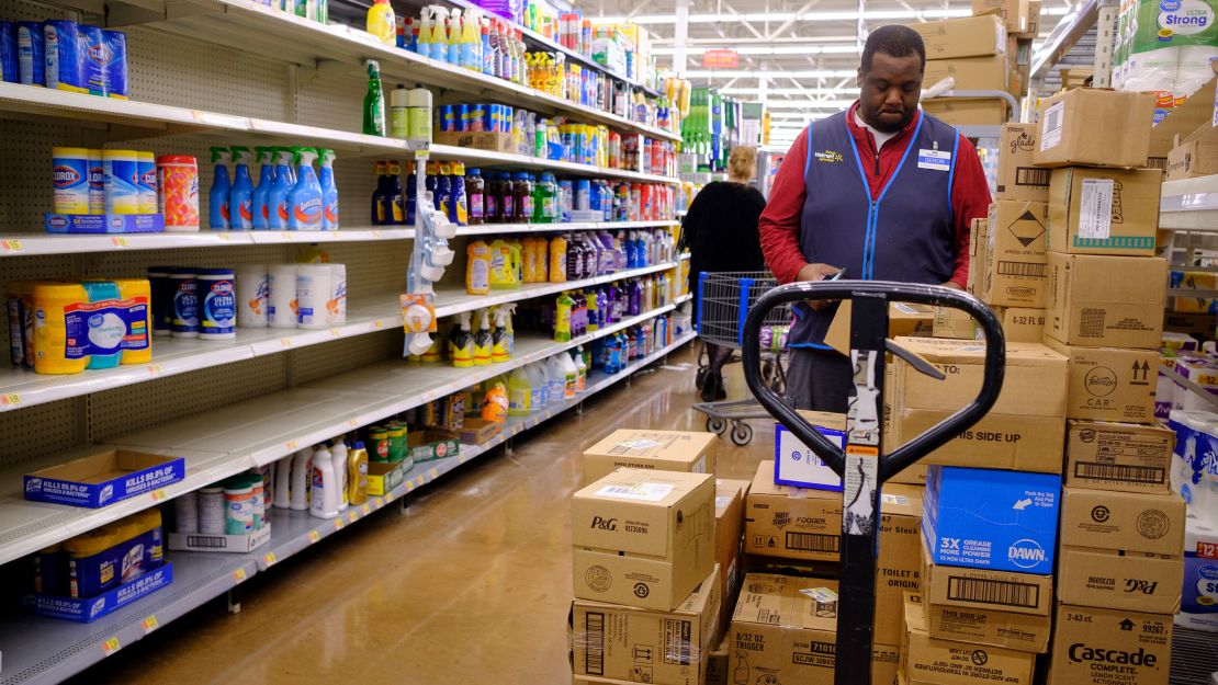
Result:
M571 544L577 599L672 610L715 566L715 481L621 468L571 498Z

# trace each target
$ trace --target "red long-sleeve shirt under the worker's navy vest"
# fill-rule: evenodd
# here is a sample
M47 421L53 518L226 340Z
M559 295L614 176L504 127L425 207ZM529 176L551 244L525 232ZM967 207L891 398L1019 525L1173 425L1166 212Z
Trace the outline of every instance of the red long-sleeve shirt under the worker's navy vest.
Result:
M872 197L879 197L884 184L896 172L922 112L918 111L877 156L876 139L871 131L860 127L854 119L857 107L857 102L850 106L845 117L847 128L854 137L860 159L876 161L878 157L877 163L867 164L864 162L862 169L867 175ZM799 270L808 264L804 253L799 249L800 214L804 210L804 200L808 197L808 190L804 185L806 159L808 129L804 129L795 137L795 142L787 152L782 165L778 167L773 186L770 189L769 203L758 223L761 232L761 251L765 253L766 264L780 283L794 281ZM956 150L956 175L951 184L951 207L955 212L957 249L956 270L950 279L961 288L966 287L968 282L968 228L973 219L987 215L989 204L989 184L985 181L982 162L977 157L977 148L961 135L960 147ZM864 228L859 226L857 230L861 231Z

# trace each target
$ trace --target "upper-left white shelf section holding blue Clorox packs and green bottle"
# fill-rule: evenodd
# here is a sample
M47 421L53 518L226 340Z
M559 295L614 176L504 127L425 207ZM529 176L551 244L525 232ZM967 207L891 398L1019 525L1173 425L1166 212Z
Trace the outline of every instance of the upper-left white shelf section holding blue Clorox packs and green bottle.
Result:
M32 85L0 83L0 111L39 118L99 123L122 127L123 139L166 135L224 134L227 141L248 140L266 144L272 140L308 142L331 147L346 156L406 152L412 145L404 140L358 133L272 122L135 100L116 100L79 92L67 92Z

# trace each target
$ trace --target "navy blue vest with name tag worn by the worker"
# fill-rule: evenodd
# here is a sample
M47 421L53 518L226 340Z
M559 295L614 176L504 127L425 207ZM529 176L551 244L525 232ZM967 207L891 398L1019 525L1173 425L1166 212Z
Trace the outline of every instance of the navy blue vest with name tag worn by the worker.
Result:
M848 279L938 285L956 268L951 180L960 134L920 113L905 156L871 197L849 111L808 127L804 184L808 197L799 220L799 248L810 264L845 266ZM795 305L792 347L827 349L825 332L837 307L814 311Z

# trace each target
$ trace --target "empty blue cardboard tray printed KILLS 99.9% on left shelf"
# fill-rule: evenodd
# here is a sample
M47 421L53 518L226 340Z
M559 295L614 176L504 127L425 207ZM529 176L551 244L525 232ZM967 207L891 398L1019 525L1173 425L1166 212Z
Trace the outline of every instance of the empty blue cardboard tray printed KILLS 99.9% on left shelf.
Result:
M177 483L186 460L108 449L26 476L26 499L97 509Z

